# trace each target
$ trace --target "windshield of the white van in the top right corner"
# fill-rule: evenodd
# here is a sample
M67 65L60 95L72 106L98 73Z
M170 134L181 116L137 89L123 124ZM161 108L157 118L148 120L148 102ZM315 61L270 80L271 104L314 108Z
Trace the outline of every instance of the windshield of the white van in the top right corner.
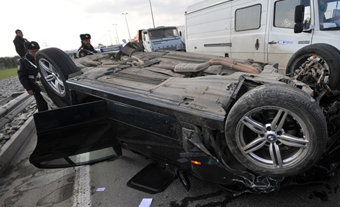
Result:
M339 0L318 0L320 30L340 29Z

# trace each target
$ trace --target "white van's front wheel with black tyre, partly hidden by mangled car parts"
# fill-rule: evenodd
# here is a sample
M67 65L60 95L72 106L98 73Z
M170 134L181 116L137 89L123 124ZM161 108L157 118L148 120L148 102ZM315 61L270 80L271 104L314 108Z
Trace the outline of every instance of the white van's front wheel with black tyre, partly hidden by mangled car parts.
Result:
M311 60L317 60L318 63L322 65L322 67L325 69L325 78L324 82L331 88L331 89L339 89L340 88L340 51L327 44L318 43L306 46L305 48L301 48L298 51L296 51L293 56L290 58L287 68L286 68L286 74L290 77L294 77L299 74L300 71L299 67L303 65L306 62L310 62ZM311 67L312 68L312 67ZM315 70L315 68L313 69ZM319 70L321 71L321 70ZM301 73L300 73L301 74ZM306 78L304 80L301 80L305 82L308 85L313 85L319 80L320 73L313 73L312 71L306 72L307 74L313 74L314 82L310 82L310 78ZM303 75L302 75L303 76ZM299 80L299 79L298 79Z

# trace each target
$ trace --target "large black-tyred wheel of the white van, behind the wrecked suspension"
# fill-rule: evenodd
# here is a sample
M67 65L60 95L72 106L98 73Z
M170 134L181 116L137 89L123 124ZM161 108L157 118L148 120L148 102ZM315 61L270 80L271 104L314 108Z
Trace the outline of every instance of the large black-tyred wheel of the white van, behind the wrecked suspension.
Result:
M286 74L312 88L324 83L331 89L339 89L340 51L323 43L301 48L290 58Z

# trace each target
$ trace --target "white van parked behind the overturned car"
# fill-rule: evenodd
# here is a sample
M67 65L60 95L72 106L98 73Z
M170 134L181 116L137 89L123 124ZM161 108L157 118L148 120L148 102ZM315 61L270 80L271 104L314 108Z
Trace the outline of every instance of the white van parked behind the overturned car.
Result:
M297 5L302 27L294 33ZM339 17L340 0L204 0L187 7L186 50L278 63L284 74L299 55L328 56L329 48L340 48Z

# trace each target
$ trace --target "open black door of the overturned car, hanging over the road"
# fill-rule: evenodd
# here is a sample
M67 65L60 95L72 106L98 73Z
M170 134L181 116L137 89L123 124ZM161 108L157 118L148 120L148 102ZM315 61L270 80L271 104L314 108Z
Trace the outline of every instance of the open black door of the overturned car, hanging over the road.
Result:
M30 162L37 168L64 168L121 155L105 101L34 114L37 144Z

